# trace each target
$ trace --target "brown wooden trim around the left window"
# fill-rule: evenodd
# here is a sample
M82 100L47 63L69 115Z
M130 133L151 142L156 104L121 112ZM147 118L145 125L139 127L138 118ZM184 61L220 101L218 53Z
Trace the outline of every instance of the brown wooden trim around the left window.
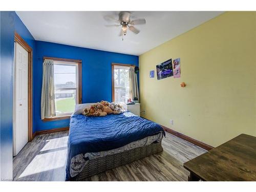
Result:
M78 103L82 103L82 60L81 59L66 59L58 57L44 57L43 59L52 59L54 61L66 61L66 62L76 62L78 65ZM42 119L42 121L56 121L62 119L70 119L71 115L56 116L51 118Z

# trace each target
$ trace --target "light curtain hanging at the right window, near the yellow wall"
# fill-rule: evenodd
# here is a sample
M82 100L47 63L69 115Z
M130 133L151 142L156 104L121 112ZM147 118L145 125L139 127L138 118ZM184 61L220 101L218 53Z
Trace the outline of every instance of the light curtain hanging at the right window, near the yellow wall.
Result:
M137 74L134 72L133 66L130 67L129 78L130 78L130 98L134 100L137 97L139 102L139 88L138 88L138 80Z

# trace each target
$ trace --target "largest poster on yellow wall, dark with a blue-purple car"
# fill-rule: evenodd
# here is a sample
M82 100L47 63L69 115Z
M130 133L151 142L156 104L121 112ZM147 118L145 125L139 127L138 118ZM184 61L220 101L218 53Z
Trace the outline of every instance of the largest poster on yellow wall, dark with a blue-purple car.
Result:
M172 59L162 62L160 65L157 65L157 79L164 79L166 77L173 76L173 65Z

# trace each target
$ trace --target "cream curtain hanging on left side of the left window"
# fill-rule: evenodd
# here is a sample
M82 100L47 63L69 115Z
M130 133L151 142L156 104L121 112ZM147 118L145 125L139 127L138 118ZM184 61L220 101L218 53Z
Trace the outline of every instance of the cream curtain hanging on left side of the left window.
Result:
M41 119L56 116L54 99L53 60L45 59L42 63Z

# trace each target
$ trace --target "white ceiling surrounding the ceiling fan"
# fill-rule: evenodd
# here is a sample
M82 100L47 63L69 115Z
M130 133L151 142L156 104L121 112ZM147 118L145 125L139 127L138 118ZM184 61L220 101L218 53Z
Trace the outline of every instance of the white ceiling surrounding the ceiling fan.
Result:
M146 25L135 26L140 33L118 36L120 28L108 28L105 15L114 11L17 11L36 40L56 42L77 47L141 55L223 13L221 11L134 11L131 19L145 18Z

